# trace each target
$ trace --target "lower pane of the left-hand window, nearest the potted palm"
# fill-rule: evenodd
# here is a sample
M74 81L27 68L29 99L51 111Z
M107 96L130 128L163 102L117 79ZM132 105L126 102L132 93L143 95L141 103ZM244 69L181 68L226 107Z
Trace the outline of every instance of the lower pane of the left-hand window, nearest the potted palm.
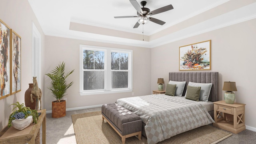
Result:
M103 90L104 71L84 72L84 90Z

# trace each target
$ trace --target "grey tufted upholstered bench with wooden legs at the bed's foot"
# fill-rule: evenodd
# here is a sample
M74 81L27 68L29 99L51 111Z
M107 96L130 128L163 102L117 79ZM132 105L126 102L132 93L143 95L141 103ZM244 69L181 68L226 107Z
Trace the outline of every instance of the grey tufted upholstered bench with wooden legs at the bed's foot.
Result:
M130 112L116 103L102 105L102 120L106 120L110 126L121 136L122 143L131 136L138 135L141 140L142 120L140 116Z

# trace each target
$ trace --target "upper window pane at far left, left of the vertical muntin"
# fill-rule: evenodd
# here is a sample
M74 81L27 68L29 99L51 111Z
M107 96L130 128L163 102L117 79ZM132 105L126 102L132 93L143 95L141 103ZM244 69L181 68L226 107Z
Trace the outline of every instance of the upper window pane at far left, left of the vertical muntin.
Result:
M93 50L84 50L84 69L90 69L93 70L93 61L94 61L94 56L93 56Z

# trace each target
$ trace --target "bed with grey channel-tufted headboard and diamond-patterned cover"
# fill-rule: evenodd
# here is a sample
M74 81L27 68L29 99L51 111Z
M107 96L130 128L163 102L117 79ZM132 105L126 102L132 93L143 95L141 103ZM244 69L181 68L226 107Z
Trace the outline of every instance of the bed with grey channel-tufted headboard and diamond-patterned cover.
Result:
M218 101L218 72L170 72L169 81L169 84L186 82L182 91L177 90L178 86L176 86L175 92L180 92L180 96L152 94L121 98L116 101L120 106L140 116L143 125L142 134L147 137L148 144L156 144L182 132L214 122L212 102ZM212 84L210 95L206 100L208 102L184 98L187 88L190 90L193 83Z

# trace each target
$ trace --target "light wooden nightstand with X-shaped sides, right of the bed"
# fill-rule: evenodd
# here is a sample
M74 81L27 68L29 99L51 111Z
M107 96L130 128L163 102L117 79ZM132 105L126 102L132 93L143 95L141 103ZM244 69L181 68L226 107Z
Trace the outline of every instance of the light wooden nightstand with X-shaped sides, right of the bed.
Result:
M245 130L245 104L226 104L224 100L214 103L214 126L238 134Z

